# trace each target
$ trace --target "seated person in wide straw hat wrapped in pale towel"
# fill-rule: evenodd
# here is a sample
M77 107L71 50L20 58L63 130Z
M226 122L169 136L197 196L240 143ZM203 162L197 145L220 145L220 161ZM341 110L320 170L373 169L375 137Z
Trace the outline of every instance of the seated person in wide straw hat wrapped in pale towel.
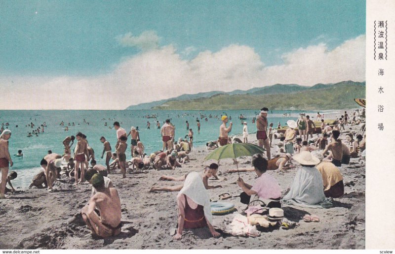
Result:
M290 191L282 200L287 204L302 207L329 207L330 204L324 202L322 176L315 167L320 160L307 151L293 156L293 159L299 162L302 168L296 173Z

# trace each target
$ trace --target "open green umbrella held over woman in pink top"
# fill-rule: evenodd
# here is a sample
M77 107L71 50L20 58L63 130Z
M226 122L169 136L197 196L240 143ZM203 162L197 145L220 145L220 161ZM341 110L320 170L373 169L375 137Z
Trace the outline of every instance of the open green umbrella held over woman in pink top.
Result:
M237 159L240 156L253 156L254 154L263 154L266 150L262 147L259 147L250 143L233 143L225 146L221 146L220 148L215 149L211 152L204 160L209 159ZM237 167L237 175L240 177L238 173L238 165L236 160Z

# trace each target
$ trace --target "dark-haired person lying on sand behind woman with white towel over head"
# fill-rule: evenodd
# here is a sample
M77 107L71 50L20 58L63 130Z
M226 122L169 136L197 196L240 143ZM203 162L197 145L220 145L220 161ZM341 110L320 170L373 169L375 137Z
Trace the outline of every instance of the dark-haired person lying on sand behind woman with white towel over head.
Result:
M211 163L208 167L205 167L203 172L201 172L201 177L202 177L202 181L203 181L203 185L204 188L206 190L208 189L215 189L215 188L222 188L221 185L216 185L216 186L209 186L208 185L208 179L210 177L214 177L215 179L218 180L217 177L217 171L218 171L218 164L216 163ZM180 176L180 177L173 177L173 176L167 176L167 175L163 175L159 178L159 180L162 181L184 181L187 178L188 174ZM164 186L164 187L153 187L151 188L150 192L154 192L154 191L180 191L182 188L184 187L184 185L177 185L177 186Z

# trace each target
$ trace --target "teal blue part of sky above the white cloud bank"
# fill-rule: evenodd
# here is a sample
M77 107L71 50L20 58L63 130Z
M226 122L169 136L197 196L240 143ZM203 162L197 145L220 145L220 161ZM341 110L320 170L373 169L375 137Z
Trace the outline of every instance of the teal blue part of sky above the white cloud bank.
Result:
M168 47L193 64L202 52L246 46L261 68L276 66L300 49L332 51L364 35L365 18L363 0L0 0L0 80L114 76L124 61Z

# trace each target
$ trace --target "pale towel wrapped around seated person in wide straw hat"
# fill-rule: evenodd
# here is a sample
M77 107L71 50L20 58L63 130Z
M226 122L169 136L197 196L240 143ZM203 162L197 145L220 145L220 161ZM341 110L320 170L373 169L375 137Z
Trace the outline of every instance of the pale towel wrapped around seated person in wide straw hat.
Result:
M290 205L309 208L329 208L333 203L325 198L323 180L316 167L302 166L282 200Z

